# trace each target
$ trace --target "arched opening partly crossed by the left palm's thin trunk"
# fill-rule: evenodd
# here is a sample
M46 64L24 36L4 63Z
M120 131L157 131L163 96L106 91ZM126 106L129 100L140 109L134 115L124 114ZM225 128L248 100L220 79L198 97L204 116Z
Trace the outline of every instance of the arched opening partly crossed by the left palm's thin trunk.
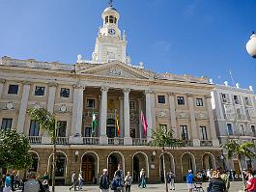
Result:
M52 154L48 161L48 174L52 176ZM56 170L55 170L55 183L56 185L65 184L67 174L67 155L63 151L56 152Z

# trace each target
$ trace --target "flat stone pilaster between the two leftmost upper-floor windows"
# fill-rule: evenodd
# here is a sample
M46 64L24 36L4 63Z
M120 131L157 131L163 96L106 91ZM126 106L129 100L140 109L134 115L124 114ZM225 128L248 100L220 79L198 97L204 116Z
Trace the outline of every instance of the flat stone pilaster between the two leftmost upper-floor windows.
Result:
M27 114L27 106L28 106L28 98L29 98L29 91L30 91L31 82L23 81L23 91L20 100L20 107L17 117L17 126L16 131L18 133L24 134L24 123Z

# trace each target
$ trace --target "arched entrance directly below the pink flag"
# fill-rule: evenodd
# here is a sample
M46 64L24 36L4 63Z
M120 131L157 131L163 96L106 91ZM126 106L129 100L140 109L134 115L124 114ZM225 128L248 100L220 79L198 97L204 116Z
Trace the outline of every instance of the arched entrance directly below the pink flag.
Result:
M146 176L149 176L149 161L148 156L144 152L136 152L132 157L132 176L133 181L139 181L139 174L141 169L145 169Z

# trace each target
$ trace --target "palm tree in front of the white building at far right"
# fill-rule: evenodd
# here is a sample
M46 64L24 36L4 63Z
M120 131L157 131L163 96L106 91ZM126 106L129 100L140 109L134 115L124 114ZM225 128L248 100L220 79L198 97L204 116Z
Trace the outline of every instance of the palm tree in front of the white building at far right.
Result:
M240 164L240 171L242 174L242 158L253 158L256 157L255 152L251 151L251 149L255 148L255 144L252 142L243 142L242 144L239 140L230 139L226 144L222 146L228 155L228 159L232 159L232 157L237 157ZM242 182L245 186L244 178L242 177Z

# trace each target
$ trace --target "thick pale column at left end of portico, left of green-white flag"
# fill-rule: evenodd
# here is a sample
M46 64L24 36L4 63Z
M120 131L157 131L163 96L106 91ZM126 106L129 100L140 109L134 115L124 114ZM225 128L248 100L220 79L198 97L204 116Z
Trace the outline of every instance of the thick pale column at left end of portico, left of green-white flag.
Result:
M83 91L84 86L73 85L72 121L71 121L71 143L81 142L83 121Z

